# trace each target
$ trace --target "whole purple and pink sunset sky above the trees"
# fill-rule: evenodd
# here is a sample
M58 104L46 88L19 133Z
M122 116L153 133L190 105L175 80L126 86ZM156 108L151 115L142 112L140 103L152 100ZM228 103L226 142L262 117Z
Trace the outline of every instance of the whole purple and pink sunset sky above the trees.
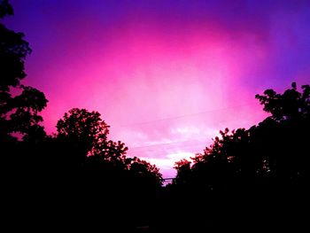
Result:
M33 49L24 83L49 99L44 127L96 110L128 156L174 162L267 113L265 89L310 83L310 1L11 0L7 27Z

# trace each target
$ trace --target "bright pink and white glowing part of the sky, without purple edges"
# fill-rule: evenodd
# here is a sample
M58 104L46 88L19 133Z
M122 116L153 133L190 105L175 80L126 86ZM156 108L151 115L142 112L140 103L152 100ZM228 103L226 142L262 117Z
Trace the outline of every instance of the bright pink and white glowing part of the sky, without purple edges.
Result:
M112 139L128 144L128 155L149 159L170 176L174 161L202 151L220 129L263 119L242 78L265 61L267 48L255 35L234 40L218 27L163 35L147 25L128 21L121 32L112 29L103 48L89 43L84 30L76 32L81 40L45 69L54 86L44 91L52 97L43 115L52 132L72 107L97 110L112 126Z

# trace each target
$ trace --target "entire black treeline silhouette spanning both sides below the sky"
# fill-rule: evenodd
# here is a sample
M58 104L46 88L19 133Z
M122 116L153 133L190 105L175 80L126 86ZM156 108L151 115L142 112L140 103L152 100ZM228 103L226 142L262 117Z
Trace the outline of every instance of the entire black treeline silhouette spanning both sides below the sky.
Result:
M13 13L0 1L0 18ZM4 218L10 229L106 232L280 230L306 227L310 87L267 89L270 113L252 128L228 128L191 160L159 169L128 158L109 140L100 113L71 109L48 136L43 92L21 84L31 52L22 33L0 23L0 146Z

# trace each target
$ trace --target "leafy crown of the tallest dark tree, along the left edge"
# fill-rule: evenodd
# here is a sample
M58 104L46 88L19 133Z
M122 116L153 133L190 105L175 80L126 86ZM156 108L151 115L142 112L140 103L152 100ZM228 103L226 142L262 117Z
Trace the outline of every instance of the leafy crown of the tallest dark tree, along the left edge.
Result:
M0 2L0 18L12 15L11 4ZM23 33L16 33L0 23L0 140L11 141L11 133L27 135L43 120L39 113L47 105L47 99L38 89L24 86L25 58L31 49ZM21 92L21 94L16 94ZM14 94L13 94L14 93Z

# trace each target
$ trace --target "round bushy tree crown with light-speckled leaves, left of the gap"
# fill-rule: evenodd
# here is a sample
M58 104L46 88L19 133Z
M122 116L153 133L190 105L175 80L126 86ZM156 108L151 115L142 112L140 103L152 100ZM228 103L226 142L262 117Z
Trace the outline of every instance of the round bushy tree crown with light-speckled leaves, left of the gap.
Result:
M75 151L71 153L81 162L87 156L100 156L111 161L125 159L128 147L120 141L107 140L109 128L100 113L78 108L69 110L57 123L58 139L71 144Z

